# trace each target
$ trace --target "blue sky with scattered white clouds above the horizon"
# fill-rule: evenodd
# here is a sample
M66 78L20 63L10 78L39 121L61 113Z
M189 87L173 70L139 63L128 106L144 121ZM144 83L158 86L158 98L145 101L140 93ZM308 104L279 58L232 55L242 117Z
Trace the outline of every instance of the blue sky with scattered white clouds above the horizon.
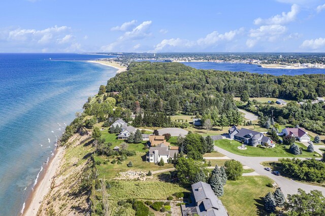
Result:
M0 52L325 52L325 0L0 3Z

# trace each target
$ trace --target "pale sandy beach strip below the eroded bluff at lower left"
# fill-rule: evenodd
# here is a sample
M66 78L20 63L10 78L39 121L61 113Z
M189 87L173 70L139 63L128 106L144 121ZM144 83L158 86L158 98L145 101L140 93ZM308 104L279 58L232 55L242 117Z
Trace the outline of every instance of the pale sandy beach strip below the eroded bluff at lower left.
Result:
M25 208L23 210L22 215L32 216L37 214L42 204L43 198L51 190L53 178L59 170L60 161L63 157L63 153L63 147L58 147L55 150L54 156L51 158L48 165L45 167L44 172L40 176L39 182L34 188L34 191L31 192L30 197L26 200Z

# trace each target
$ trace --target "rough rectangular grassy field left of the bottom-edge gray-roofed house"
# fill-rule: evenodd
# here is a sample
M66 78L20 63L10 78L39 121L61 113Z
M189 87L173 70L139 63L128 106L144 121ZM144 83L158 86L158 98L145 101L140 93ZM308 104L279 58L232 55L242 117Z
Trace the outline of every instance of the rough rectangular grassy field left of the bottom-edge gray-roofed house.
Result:
M109 181L112 188L107 192L109 199L121 200L128 198L145 200L166 200L176 192L188 192L177 184L165 182L125 182Z

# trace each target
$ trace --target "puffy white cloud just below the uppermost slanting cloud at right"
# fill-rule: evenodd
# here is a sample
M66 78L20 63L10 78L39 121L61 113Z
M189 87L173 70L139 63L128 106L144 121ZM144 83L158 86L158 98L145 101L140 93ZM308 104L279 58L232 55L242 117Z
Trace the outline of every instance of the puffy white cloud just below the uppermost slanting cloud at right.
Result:
M274 42L280 35L286 32L287 28L283 25L262 25L256 29L250 29L246 41L246 46L252 48L258 41Z

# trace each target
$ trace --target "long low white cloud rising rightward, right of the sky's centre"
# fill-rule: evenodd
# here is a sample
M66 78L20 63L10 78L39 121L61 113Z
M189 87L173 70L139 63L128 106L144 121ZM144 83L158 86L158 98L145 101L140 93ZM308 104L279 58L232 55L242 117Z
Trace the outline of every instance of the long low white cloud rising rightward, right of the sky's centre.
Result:
M213 31L207 34L206 37L200 38L197 41L190 41L180 38L164 39L163 41L155 45L154 50L150 52L160 52L163 50L173 51L175 48L181 51L185 51L189 48L198 48L198 50L202 50L210 46L217 46L219 42L232 41L236 37L236 35L240 34L243 31L243 28L231 30L223 34L220 34L217 31Z

